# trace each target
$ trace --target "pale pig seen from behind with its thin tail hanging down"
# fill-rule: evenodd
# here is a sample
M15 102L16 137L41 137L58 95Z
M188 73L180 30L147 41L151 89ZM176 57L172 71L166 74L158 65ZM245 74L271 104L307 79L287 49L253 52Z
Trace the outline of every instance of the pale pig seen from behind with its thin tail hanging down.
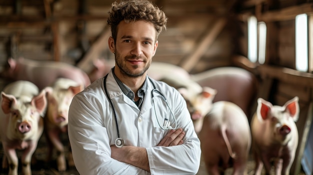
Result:
M209 175L219 175L228 167L233 167L232 175L246 175L251 134L241 108L227 101L213 103L198 137Z

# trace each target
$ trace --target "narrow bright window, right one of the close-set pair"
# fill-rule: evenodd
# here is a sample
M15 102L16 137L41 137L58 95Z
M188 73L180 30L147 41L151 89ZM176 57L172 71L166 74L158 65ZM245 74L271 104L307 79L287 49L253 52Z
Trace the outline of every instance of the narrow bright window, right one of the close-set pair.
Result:
M266 51L266 24L265 22L258 22L258 62L263 64L265 62Z

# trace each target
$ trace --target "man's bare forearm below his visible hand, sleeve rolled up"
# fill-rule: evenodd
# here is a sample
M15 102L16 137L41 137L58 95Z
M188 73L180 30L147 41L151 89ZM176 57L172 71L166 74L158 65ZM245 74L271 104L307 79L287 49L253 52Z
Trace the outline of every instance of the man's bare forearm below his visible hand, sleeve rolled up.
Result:
M150 172L148 156L145 148L134 146L116 148L113 145L111 146L111 158Z

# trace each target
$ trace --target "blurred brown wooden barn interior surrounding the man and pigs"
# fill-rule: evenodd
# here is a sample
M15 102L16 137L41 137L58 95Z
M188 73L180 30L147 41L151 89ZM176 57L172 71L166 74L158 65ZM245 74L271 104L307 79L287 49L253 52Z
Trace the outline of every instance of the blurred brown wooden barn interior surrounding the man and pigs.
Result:
M64 62L90 75L95 60L114 61L107 42L111 32L106 25L114 1L0 0L1 70L9 58L24 57ZM298 147L290 175L311 175L313 1L151 1L168 17L152 62L172 64L195 76L224 67L249 72L255 79L253 96L246 99L243 93L238 99L248 104L249 121L258 98L280 106L295 96L299 98ZM1 77L1 89L11 81ZM225 91L232 88L227 86ZM78 175L75 168L60 173L54 164L44 165L40 162L45 152L44 139L38 146L41 153L33 175ZM2 157L3 151L0 153ZM249 169L252 175L253 167ZM1 175L7 173L0 170ZM207 175L202 163L197 175Z

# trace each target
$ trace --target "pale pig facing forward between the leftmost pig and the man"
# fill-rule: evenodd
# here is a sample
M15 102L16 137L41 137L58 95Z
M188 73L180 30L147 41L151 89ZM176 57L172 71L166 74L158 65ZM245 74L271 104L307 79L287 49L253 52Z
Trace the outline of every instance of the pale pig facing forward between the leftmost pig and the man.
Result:
M48 144L47 161L52 159L53 148L57 151L57 169L66 170L64 146L60 139L62 133L67 131L68 109L75 94L83 90L83 85L66 78L58 78L52 87L44 88L48 101L44 117L44 133ZM68 156L69 165L72 166L72 157Z

